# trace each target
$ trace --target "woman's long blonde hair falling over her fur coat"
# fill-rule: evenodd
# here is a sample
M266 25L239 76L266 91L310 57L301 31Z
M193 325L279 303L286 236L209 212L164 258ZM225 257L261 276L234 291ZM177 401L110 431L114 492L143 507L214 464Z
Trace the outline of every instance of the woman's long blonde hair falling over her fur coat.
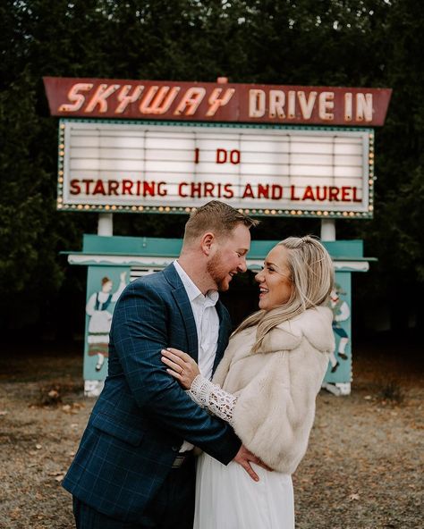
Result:
M306 237L289 237L277 245L287 250L287 266L290 281L293 284L292 295L287 303L272 310L259 310L247 317L233 332L258 325L253 352L260 350L267 332L279 323L300 315L312 306L327 302L334 284L334 265L326 248L318 239Z

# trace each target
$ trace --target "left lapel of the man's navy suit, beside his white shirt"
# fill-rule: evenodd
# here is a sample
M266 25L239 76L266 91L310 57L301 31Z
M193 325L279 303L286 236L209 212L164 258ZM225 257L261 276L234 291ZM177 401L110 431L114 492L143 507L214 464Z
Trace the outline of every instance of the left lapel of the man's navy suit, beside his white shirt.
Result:
M182 284L180 276L175 270L174 265L166 266L164 273L166 280L172 286L173 290L171 290L171 292L176 306L178 306L178 309L181 312L182 321L187 334L187 343L189 348L184 352L188 353L197 362L199 357L199 340L198 332L196 330L196 322L194 320L193 311L191 310L190 299L187 296L187 292L184 288L184 285Z

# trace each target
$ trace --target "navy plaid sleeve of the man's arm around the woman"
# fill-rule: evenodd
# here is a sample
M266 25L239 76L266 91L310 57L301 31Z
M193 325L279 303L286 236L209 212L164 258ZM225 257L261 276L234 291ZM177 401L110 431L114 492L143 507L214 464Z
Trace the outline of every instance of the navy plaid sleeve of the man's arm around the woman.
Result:
M115 306L111 342L138 406L165 430L226 465L241 441L230 426L195 404L161 362L161 349L173 345L168 343L172 308L152 285L131 283Z

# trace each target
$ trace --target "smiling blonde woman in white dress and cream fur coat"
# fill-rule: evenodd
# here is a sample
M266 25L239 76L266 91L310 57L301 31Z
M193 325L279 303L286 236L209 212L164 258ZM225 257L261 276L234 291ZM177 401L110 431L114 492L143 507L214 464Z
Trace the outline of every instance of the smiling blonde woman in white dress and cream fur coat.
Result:
M197 529L292 529L291 474L305 454L315 399L334 348L333 263L311 237L278 243L256 275L259 312L233 332L213 382L177 349L163 351L168 372L191 399L233 425L243 444L269 466L259 482L241 466L199 458Z

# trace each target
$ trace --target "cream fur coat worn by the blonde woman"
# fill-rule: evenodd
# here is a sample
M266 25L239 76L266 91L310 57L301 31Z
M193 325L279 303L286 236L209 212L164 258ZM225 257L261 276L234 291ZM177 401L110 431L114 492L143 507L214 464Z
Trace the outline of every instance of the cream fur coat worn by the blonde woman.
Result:
M237 396L234 430L268 466L293 474L315 415L315 399L334 348L332 313L310 308L276 326L251 353L256 327L236 334L213 382Z

